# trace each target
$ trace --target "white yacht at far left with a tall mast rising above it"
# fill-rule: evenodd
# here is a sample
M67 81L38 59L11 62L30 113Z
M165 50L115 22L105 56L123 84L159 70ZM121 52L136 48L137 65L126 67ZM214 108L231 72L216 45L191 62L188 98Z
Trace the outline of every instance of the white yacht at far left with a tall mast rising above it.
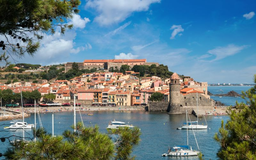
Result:
M4 129L31 129L34 128L34 124L27 124L24 122L24 111L23 111L23 103L22 103L22 92L20 92L21 97L21 107L22 107L22 122L20 121L12 121L10 122L12 125L9 127L4 127Z

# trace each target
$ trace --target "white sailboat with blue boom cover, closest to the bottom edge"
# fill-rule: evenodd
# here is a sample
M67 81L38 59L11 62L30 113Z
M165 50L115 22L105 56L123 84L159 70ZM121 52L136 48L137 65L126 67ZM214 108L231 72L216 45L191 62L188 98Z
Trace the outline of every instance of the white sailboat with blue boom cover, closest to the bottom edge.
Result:
M187 117L187 125L188 125L188 112L186 110L186 117ZM194 130L193 130L194 132ZM194 133L195 136L195 133ZM196 139L196 136L195 136ZM199 150L197 141L196 141L197 148ZM199 151L193 150L192 147L190 146L190 150L188 147L188 128L187 128L187 145L180 145L180 146L174 146L174 147L169 147L168 149L168 154L164 153L162 156L197 156Z

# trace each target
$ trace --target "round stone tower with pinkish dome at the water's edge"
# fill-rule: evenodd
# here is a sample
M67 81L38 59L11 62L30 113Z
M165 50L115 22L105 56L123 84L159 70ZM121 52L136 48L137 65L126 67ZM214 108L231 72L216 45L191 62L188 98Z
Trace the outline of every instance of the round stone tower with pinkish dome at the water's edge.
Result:
M168 112L180 109L180 77L177 73L173 73L170 80L170 103L167 109Z

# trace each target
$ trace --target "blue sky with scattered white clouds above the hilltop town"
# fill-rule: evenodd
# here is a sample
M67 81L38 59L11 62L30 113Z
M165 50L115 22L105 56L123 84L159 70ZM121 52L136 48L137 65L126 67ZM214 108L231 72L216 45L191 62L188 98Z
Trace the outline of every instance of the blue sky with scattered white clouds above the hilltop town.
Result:
M147 59L208 83L252 83L256 1L82 0L74 28L46 35L34 58Z

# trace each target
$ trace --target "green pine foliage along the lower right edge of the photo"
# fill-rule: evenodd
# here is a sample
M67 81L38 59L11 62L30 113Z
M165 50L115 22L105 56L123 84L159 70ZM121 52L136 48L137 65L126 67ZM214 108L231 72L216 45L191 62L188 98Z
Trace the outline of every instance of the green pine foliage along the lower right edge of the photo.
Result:
M256 159L256 75L255 85L242 98L246 101L237 103L236 109L228 109L230 119L224 127L222 120L214 139L220 143L217 156L220 159Z

